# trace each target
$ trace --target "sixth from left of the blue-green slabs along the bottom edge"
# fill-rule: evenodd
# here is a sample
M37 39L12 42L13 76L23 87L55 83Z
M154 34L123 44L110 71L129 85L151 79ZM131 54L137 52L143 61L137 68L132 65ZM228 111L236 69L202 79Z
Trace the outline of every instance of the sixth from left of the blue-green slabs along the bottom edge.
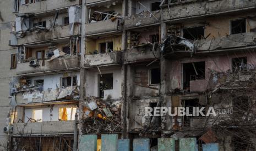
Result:
M179 151L197 151L197 138L179 138Z

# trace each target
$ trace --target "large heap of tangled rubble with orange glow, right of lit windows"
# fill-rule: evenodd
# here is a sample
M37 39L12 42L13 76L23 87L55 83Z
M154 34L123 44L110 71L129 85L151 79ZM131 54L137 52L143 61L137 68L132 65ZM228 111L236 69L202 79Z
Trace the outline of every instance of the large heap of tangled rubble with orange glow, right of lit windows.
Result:
M122 131L121 106L101 98L88 98L84 103L83 133Z

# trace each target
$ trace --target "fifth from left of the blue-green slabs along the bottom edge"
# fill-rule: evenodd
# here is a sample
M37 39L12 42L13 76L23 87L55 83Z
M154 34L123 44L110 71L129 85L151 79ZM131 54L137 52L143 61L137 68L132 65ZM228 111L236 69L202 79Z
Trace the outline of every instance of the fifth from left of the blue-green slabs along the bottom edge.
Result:
M173 138L158 138L158 151L175 151L175 140Z

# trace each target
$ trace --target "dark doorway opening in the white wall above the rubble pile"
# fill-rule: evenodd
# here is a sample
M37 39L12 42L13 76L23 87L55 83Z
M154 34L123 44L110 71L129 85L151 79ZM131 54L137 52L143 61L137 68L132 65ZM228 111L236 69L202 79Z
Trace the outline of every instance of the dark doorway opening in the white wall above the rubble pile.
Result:
M113 73L109 74L101 74L100 77L100 83L99 83L99 91L100 91L100 97L104 97L104 90L111 90L113 89Z

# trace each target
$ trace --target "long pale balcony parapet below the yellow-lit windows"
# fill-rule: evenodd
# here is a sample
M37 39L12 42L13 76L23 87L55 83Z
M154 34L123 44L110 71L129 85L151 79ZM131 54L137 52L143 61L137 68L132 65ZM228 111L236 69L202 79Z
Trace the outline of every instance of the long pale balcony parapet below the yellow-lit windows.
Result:
M74 121L42 121L35 123L14 123L14 135L73 133Z

